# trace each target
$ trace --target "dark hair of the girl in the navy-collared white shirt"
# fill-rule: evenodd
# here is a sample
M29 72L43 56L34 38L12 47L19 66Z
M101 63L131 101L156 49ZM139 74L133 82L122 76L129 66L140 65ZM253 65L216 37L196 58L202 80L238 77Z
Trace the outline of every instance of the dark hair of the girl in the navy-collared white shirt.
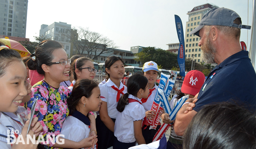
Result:
M89 79L78 79L76 80L75 85L73 86L72 93L69 95L67 99L69 113L72 115L74 111L76 111L76 105L78 105L80 99L85 96L86 98L90 98L92 95L92 89L98 87L98 83L94 80Z

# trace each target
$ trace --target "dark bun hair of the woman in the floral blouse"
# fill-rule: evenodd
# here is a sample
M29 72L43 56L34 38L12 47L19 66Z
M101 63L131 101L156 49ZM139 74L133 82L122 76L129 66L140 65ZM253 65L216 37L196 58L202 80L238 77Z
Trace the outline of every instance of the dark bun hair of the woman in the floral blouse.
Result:
M35 53L33 53L31 56L35 56L36 60L33 61L32 59L28 60L28 68L30 70L36 70L39 74L44 75L45 71L42 69L43 64L50 63L54 56L52 53L54 50L62 48L62 45L53 40L45 40L42 41L40 44L38 44L38 47L36 48ZM47 64L50 66L50 64Z

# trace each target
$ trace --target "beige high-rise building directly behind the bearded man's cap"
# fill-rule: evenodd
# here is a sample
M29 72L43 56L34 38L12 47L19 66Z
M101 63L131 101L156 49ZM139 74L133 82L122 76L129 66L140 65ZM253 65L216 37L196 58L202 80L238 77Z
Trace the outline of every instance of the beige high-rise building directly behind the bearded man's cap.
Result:
M200 23L202 16L211 9L218 8L218 6L213 4L204 4L194 7L191 11L187 12L188 21L186 22L186 30L184 32L185 36L185 57L194 57L194 62L203 62L202 51L198 46L200 37L189 34L194 30Z

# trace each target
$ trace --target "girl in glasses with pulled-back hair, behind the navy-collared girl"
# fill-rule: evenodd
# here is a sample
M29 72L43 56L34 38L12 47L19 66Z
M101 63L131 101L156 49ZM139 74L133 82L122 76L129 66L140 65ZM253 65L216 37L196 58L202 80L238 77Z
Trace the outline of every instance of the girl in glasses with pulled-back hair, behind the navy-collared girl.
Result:
M71 85L68 87L71 91L73 90L73 86L76 83L76 80L78 79L89 79L93 80L97 69L95 69L94 64L92 63L92 60L90 60L87 57L79 57L76 60L73 60L70 66L71 69L71 76L73 76L73 81ZM89 119L90 119L90 134L89 136L95 136L96 137L96 122L95 122L95 115L92 111L89 112ZM95 131L92 131L95 130ZM95 142L96 144L96 139Z

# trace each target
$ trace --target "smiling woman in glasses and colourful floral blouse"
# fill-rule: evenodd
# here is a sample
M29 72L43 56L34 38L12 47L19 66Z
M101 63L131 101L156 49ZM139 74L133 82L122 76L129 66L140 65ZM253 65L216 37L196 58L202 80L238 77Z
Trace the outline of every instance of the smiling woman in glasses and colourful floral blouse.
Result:
M35 99L38 99L34 117L38 117L38 121L43 126L41 134L44 137L44 142L38 144L38 149L91 147L96 139L95 136L80 142L57 137L63 121L69 115L67 98L71 94L67 87L60 86L61 82L69 80L70 69L70 60L62 45L57 41L42 41L27 65L29 69L44 75L44 79L31 88L31 99L25 104L27 111L31 112ZM50 141L54 138L56 142ZM46 144L47 140L49 144Z

